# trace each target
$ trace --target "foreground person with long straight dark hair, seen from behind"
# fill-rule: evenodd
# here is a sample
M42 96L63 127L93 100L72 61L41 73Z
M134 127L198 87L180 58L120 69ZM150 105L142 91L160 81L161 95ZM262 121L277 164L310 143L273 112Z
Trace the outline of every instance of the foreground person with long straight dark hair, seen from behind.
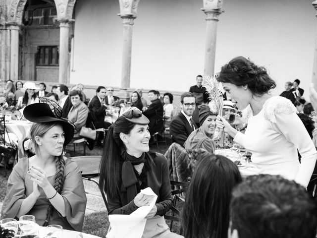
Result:
M226 238L231 191L242 181L237 166L203 152L190 181L181 221L185 238Z

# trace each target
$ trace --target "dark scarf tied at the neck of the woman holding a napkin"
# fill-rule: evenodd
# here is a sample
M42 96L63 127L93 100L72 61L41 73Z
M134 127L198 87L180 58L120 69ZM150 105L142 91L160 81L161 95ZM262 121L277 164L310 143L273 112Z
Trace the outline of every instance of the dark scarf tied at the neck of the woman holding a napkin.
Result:
M139 165L146 162L145 153L141 155L140 158L136 158L129 155L126 151L122 153L122 158L124 160L122 164L122 184L123 187L127 189L127 199L128 202L132 201L134 197L138 194L137 183L138 179L134 172L134 165Z

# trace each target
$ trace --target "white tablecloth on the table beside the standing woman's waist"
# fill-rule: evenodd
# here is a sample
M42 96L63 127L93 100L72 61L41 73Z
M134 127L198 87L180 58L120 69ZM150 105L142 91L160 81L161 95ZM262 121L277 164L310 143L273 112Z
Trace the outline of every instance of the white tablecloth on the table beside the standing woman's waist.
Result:
M260 173L257 166L252 162L246 162L245 157L240 156L237 152L231 149L215 150L214 154L223 155L231 161L240 161L241 165L237 165L242 177L250 175L258 175Z

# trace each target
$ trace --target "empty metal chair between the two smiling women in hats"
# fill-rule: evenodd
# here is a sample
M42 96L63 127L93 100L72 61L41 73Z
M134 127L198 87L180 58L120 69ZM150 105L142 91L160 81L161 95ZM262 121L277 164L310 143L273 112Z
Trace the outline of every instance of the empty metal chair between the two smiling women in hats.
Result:
M76 157L70 157L68 159L76 161L77 165L79 166L81 170L81 176L83 179L93 181L99 187L99 181L93 178L99 176L99 165L101 161L100 155L76 156ZM106 209L107 211L109 211L106 194L102 189L100 189L100 187L99 187L99 190L104 199Z

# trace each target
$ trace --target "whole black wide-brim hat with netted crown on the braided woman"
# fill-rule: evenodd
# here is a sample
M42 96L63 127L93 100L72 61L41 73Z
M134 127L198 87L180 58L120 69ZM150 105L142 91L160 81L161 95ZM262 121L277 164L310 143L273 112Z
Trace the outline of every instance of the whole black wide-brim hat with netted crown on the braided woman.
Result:
M75 133L75 125L67 119L61 117L62 109L53 100L47 98L40 98L40 103L30 104L23 110L23 116L25 119L41 123L41 122L59 122L65 133L64 146L67 145Z

